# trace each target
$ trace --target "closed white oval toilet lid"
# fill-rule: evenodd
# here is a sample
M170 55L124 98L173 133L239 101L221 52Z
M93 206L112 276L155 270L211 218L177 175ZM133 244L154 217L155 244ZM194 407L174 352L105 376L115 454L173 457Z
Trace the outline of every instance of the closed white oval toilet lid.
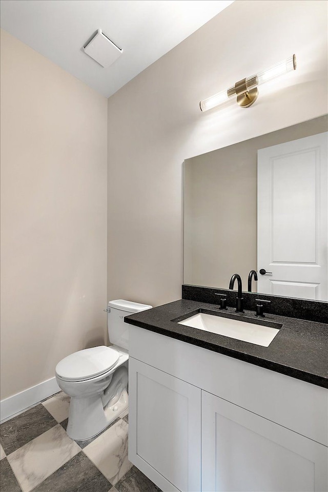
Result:
M85 348L58 362L56 375L65 381L94 378L109 371L118 358L119 353L110 347Z

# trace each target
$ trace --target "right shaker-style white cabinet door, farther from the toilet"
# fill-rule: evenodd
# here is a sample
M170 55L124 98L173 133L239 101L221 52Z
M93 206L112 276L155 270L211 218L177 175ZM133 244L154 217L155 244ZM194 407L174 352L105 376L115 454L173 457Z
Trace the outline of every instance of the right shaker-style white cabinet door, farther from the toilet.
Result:
M327 490L327 448L202 391L202 492Z

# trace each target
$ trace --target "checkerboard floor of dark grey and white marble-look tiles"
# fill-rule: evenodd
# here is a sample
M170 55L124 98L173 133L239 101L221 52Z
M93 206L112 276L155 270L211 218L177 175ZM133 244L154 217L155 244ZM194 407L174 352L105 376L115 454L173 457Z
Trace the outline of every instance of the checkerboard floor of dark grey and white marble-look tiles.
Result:
M88 441L66 433L63 392L0 426L1 492L161 492L128 460L128 412Z

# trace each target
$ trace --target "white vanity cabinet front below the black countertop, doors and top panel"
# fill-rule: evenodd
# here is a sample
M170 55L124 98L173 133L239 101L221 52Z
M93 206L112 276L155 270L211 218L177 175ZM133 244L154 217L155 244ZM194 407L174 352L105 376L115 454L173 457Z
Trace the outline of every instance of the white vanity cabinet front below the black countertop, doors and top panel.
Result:
M327 491L325 388L129 328L129 459L163 492Z

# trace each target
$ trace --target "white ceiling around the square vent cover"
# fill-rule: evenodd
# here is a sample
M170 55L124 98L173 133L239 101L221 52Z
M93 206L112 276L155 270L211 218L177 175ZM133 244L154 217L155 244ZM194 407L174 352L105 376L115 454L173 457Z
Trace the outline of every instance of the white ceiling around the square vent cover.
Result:
M1 27L111 96L233 0L1 0ZM97 29L124 53L103 68L83 52Z

